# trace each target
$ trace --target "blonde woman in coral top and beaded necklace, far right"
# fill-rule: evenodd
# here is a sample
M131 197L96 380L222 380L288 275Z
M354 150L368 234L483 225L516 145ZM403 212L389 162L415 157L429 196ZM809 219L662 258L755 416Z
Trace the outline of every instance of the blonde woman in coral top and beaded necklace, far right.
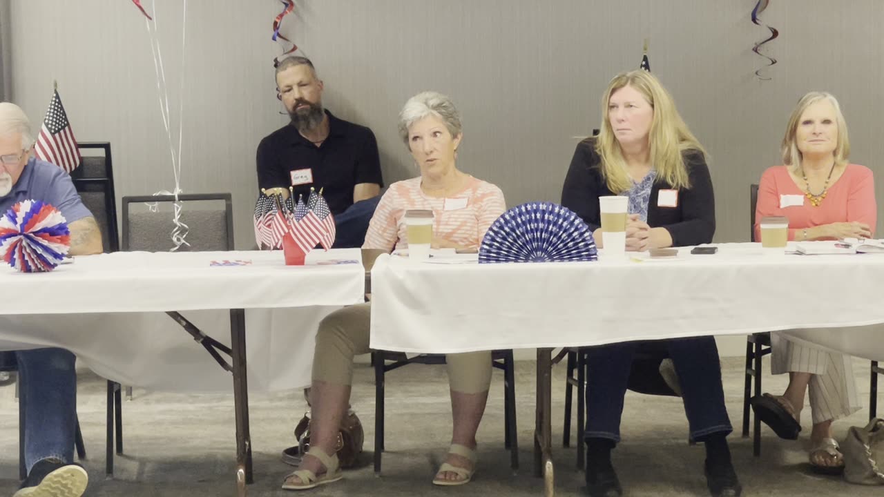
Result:
M785 165L761 176L755 210L755 238L761 218L789 218L789 240L871 238L877 216L872 171L849 164L847 125L834 96L808 93L798 102L782 141ZM812 348L771 333L773 374L789 372L782 395L752 399L758 417L783 439L801 431L804 394L810 391L813 419L810 463L822 473L839 473L844 461L832 422L861 408L850 356Z

